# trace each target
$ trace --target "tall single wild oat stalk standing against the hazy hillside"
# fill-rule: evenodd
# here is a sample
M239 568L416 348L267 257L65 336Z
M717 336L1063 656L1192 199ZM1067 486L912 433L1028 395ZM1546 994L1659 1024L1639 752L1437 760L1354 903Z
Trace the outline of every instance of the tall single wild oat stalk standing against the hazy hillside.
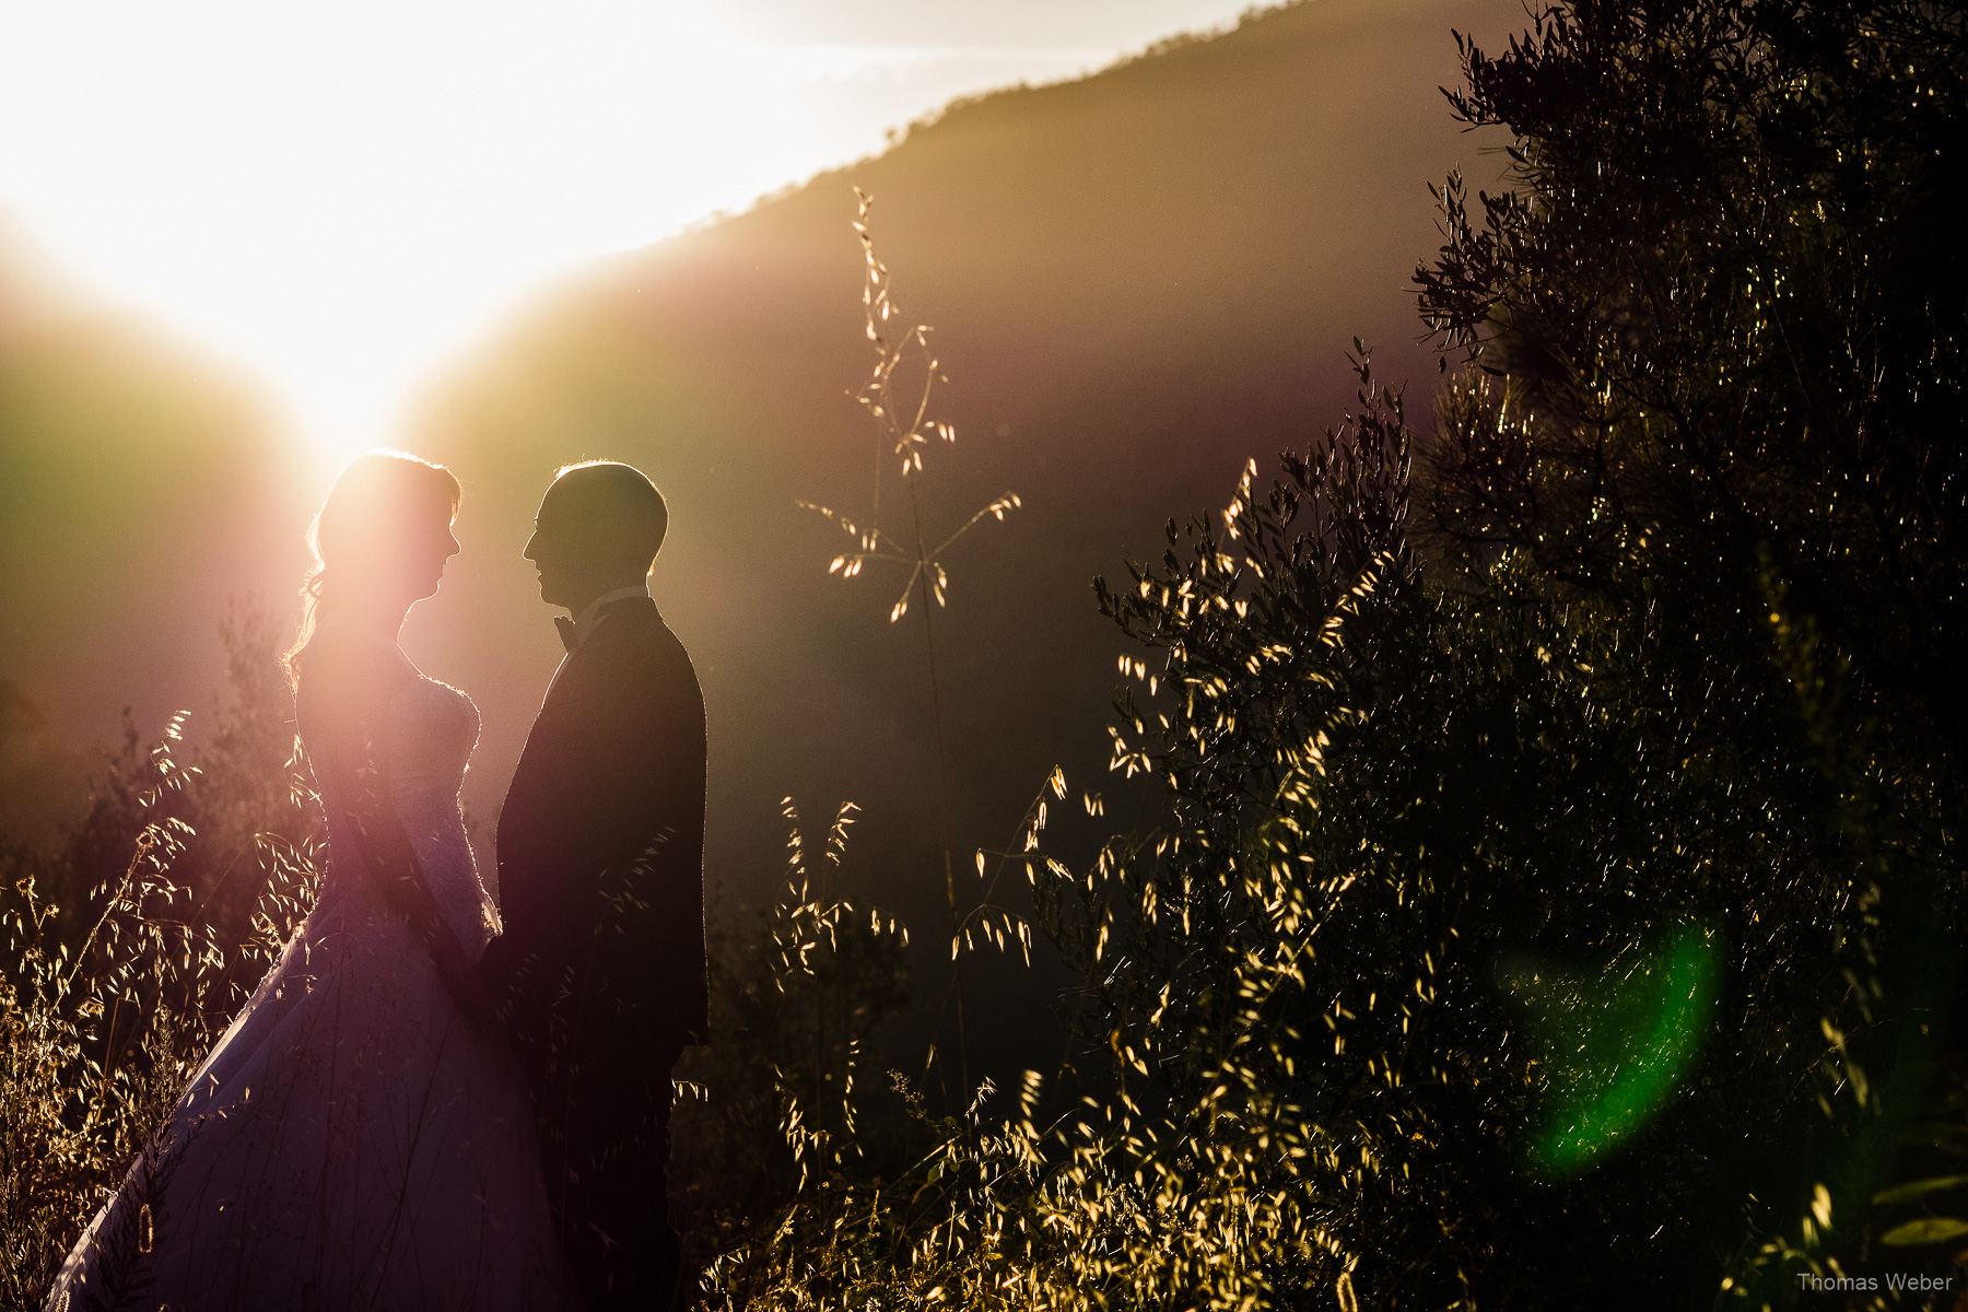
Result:
M937 629L933 616L937 608L947 604L951 584L949 570L943 567L945 553L956 545L956 539L984 519L1004 521L1008 511L1019 507L1019 500L1015 492L1006 492L935 545L931 545L929 535L923 531L923 504L919 488L923 474L923 450L933 441L956 441L954 427L929 417L929 403L935 388L939 382L949 382L949 378L941 372L941 362L929 346L929 325L919 323L905 330L897 330L897 325L905 321L899 317L899 309L890 297L890 271L888 266L876 258L874 236L868 230L868 209L874 203L874 197L856 187L854 199L860 205L860 212L854 220L854 232L860 236L862 256L868 262L868 281L862 285L862 309L866 313L868 340L874 344L876 352L874 372L856 395L874 419L874 496L866 523L854 523L846 515L825 506L815 506L813 502L801 502L799 506L825 515L854 541L850 551L832 559L827 567L829 574L852 578L860 574L862 567L870 561L892 561L909 567L909 576L903 580L901 594L895 598L895 604L890 606L890 624L895 624L909 614L911 592L921 600L923 653L929 665L929 716L937 744L937 810L943 828L943 891L951 907L951 995L956 1003L956 1064L964 1096L968 1098L970 1041L964 1029L964 982L960 952L966 940L966 924L964 913L956 903L956 862L951 840L951 763L943 734L943 683L937 673ZM913 372L903 372L903 366L911 362L921 366L919 388L897 380L897 374L913 378ZM909 523L907 531L901 535L884 533L880 527L882 480L888 460L901 462L901 482L909 494ZM935 606L931 602L935 602Z

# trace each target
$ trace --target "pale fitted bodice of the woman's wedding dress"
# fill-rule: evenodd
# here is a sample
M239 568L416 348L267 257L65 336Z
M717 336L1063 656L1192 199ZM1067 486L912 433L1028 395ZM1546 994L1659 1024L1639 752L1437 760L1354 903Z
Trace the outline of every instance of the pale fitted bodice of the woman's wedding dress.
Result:
M407 667L409 661L398 655ZM478 879L464 834L459 791L478 745L478 708L459 688L413 673L388 698L374 726L376 765L388 777L388 797L409 838L423 879L464 956L476 960L498 934L498 911ZM329 816L329 873L323 895L366 885L366 871L348 828L346 805L323 781Z

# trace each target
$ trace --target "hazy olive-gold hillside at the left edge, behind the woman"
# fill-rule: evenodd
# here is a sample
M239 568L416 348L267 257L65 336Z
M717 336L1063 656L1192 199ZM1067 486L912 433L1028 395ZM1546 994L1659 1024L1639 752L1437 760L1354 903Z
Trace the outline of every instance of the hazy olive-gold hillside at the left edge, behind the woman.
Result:
M203 730L228 598L285 606L299 580L295 462L242 378L41 285L4 236L0 720L110 742L130 706L148 734L173 710ZM0 826L47 785L0 765Z

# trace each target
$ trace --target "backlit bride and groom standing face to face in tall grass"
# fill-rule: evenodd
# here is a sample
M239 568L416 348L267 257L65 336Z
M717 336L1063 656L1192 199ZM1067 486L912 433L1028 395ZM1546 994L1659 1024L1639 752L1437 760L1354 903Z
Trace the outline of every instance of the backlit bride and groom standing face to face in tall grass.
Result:
M500 812L496 909L459 810L478 710L396 643L457 507L449 470L396 452L329 492L289 655L319 901L49 1308L681 1302L669 1080L705 1041L705 708L646 582L667 511L604 462L541 502L525 557L575 618Z

